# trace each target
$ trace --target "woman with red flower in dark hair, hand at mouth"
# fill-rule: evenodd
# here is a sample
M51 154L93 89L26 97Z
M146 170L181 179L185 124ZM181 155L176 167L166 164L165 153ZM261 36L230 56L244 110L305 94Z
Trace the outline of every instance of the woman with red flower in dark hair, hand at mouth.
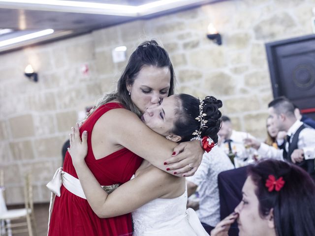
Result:
M243 199L211 236L228 236L237 221L240 236L314 236L315 183L301 168L279 160L248 167Z

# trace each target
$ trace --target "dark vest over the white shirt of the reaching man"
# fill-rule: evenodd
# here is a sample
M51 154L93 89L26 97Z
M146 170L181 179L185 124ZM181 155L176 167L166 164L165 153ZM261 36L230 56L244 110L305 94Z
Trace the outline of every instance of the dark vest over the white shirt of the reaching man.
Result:
M293 134L293 137L291 137L291 142L290 140L286 141L286 142L289 142L288 151L285 150L285 144L284 146L282 146L282 149L284 150L283 152L284 160L292 162L291 154L295 149L298 149L297 143L299 141L299 135L300 135L300 132L305 128L306 126L302 124L298 128L298 130ZM303 161L296 162L295 164L303 168L305 171L307 171L311 175L311 177L315 179L315 160L314 159L309 159L309 160L304 159Z

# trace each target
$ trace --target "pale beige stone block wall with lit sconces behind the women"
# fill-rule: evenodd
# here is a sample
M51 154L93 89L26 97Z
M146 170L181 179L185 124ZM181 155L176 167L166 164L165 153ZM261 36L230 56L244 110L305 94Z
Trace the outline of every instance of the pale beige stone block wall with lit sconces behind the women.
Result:
M28 172L34 201L49 201L45 184L61 165L78 112L114 89L126 64L112 62L117 46L125 45L129 56L143 40L158 39L173 61L177 92L220 98L236 129L264 139L272 99L264 44L311 34L313 7L315 0L226 0L0 55L0 168L7 203L23 202ZM206 38L210 22L222 35L221 46ZM38 83L23 75L29 63Z

